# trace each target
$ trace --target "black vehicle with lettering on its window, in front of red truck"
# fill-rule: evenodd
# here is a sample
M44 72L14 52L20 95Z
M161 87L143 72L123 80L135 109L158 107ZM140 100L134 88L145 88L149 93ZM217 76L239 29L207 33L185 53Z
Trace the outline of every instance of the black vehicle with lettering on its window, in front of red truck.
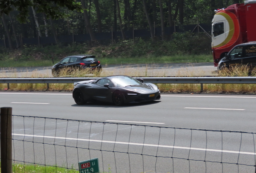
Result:
M218 70L237 65L246 65L250 69L256 67L256 42L242 43L233 47L219 61Z

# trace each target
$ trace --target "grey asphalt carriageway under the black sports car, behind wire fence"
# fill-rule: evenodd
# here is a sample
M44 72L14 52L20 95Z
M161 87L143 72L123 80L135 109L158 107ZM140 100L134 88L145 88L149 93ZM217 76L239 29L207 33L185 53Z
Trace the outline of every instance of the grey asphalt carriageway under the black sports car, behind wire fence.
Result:
M255 99L254 95L163 94L160 101L153 103L123 107L106 103L78 106L71 93L2 92L0 106L12 107L13 115L147 125L79 123L14 116L14 139L21 140L14 141L17 160L32 163L45 160L46 164L68 163L77 167L78 161L97 157L100 170L104 168L105 172L111 167L111 172L246 173L254 172L255 167L215 162L254 165L254 135L190 129L255 132ZM69 139L65 140L67 137ZM24 142L32 140L39 143ZM53 143L60 146L50 145ZM72 147L66 149L62 145ZM239 151L244 153L239 154Z

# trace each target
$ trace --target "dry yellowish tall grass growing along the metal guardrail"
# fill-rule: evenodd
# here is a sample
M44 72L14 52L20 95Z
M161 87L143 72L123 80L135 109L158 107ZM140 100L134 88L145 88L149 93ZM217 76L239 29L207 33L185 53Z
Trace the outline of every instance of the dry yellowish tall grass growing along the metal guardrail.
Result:
M148 68L147 65L143 70L134 70L133 68L124 68L120 70L119 74L128 75L128 76L145 76L147 77ZM194 76L196 72L190 72L186 76ZM15 77L18 73L12 73ZM61 73L61 77L70 76L70 77L101 77L101 76L110 76L115 75L113 72L102 71L102 72L91 72L89 69L85 70L73 70L69 71L64 69ZM250 68L247 66L235 66L231 68L226 68L220 70L217 73L217 76L256 76L256 70L250 71ZM5 77L4 73L0 73L0 77ZM26 75L27 77L27 75ZM38 73L37 71L32 72L31 77L50 77L44 76L43 74ZM159 76L164 77L164 75ZM162 93L201 93L200 84L157 84ZM7 84L0 84L0 90L4 91L7 89ZM66 91L71 92L73 89L73 84L49 84L48 91ZM47 91L46 84L10 84L10 91ZM203 93L237 93L244 94L256 93L256 84L204 84Z

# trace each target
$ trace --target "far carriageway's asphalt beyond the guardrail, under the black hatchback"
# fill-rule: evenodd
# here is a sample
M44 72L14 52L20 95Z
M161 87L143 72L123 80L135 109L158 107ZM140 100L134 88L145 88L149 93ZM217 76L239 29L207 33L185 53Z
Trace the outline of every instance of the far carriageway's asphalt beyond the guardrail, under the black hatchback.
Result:
M1 68L0 77L52 77L52 67ZM213 62L103 65L101 76L214 76ZM91 74L89 74L90 76Z

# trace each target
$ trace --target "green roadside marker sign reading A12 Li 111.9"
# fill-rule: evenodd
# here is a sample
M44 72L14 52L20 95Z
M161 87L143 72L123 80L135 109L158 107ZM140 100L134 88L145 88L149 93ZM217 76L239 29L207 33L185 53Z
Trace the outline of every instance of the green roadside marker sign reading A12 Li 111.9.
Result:
M91 159L79 162L79 173L98 173L99 172L99 159Z

